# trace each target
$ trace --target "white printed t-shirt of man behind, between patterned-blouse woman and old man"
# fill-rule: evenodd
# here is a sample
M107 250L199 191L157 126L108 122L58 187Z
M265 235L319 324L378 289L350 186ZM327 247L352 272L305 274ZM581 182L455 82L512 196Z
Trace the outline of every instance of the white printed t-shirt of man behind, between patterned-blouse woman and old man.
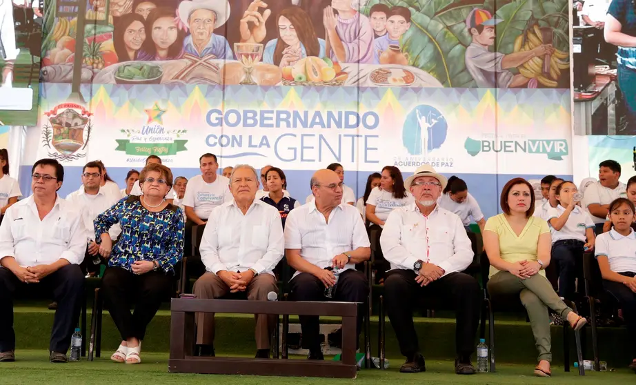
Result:
M192 177L186 186L186 195L183 196L183 206L195 209L195 214L202 220L210 217L212 208L232 201L230 192L230 179L217 175L212 183L206 183L202 175Z

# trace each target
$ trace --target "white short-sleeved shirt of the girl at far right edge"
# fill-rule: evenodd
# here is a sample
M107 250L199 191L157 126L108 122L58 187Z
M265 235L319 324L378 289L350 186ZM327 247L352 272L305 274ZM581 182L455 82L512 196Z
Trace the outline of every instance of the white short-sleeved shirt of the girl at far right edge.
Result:
M614 273L636 273L636 233L624 237L614 228L596 237L595 257L605 255Z

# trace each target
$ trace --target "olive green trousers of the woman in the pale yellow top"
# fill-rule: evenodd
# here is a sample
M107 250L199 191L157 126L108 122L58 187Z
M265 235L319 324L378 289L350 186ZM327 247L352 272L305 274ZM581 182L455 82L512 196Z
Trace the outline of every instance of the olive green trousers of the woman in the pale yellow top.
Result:
M548 279L539 274L520 279L508 271L500 271L488 280L488 293L493 297L519 293L519 299L521 299L521 304L526 307L530 327L535 335L539 361L545 359L552 362L552 353L550 352L552 338L550 336L548 308L560 315L564 322L567 322L568 313L572 309L559 298Z

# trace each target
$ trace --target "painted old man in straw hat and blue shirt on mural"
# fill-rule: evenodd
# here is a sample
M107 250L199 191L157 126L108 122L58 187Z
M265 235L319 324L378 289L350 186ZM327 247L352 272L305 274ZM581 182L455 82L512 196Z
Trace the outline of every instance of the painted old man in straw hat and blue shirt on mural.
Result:
M213 33L230 17L230 3L219 0L185 0L179 4L179 19L190 29L184 50L196 57L233 59L228 40Z

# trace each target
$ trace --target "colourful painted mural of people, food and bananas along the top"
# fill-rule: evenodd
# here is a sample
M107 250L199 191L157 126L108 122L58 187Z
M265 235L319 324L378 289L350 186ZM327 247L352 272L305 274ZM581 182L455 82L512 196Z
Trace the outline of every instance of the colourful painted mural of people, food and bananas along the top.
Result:
M84 2L86 1L86 2ZM567 0L57 0L43 81L569 88Z

